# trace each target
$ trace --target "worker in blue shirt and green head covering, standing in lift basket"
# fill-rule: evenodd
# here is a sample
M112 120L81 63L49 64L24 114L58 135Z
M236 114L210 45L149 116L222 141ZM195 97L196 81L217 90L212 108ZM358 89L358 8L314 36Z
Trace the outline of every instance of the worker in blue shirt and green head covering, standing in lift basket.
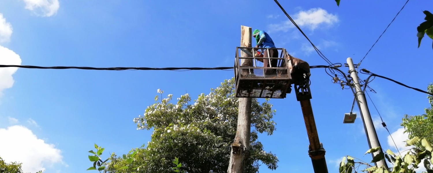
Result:
M268 58L268 54L270 58L278 58L278 50L272 49L276 47L274 41L272 41L272 38L268 35L268 33L259 29L255 29L254 32L252 32L252 36L255 38L255 48L269 48L269 53L267 49L262 49L263 58ZM263 67L269 67L269 59L258 60L263 62ZM271 66L277 67L277 61L278 60L276 59L271 59ZM263 73L265 77L269 77L271 75L276 75L276 70L263 69Z

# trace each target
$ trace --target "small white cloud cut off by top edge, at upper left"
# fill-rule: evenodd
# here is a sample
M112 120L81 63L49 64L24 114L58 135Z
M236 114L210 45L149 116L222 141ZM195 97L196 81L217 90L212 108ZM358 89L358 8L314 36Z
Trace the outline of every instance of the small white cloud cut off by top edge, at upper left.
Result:
M31 10L40 16L53 16L60 7L58 0L23 0L26 3L26 9Z

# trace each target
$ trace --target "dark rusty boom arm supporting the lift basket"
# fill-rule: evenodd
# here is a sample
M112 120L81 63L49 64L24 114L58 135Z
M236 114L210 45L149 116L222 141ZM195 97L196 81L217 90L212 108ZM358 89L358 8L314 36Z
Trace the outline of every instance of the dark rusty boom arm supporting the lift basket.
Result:
M301 103L302 114L304 115L305 127L307 128L308 140L310 146L308 155L313 163L314 173L328 173L325 160L325 149L319 141L317 134L316 122L314 121L313 108L310 99L310 73L301 68L294 66L292 82L294 83L296 99Z

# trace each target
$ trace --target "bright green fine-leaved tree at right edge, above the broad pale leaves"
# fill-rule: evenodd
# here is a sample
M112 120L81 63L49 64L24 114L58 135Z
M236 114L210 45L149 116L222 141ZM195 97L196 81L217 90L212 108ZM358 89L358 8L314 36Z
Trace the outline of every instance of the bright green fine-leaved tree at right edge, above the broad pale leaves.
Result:
M427 87L427 91L433 93L432 84ZM431 144L433 143L433 96L429 95L427 98L429 99L430 108L425 109L426 114L415 116L404 115L401 125L404 126L404 132L408 133L409 138L415 139L416 136L419 136ZM424 146L422 143L418 143L418 141L415 143L417 143L415 146L419 149L428 147L427 149L431 150L431 146Z

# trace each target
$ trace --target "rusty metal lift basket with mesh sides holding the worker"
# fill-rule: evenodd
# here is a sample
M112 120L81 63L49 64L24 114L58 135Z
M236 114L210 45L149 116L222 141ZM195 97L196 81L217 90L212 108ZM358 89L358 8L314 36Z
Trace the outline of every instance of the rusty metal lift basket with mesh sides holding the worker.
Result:
M267 57L257 57L253 50L267 51ZM270 57L270 50L278 51L279 57ZM236 97L285 98L291 93L292 82L288 60L291 57L284 48L236 47ZM259 61L268 61L269 67L263 67ZM273 67L271 61L277 61L277 65Z

